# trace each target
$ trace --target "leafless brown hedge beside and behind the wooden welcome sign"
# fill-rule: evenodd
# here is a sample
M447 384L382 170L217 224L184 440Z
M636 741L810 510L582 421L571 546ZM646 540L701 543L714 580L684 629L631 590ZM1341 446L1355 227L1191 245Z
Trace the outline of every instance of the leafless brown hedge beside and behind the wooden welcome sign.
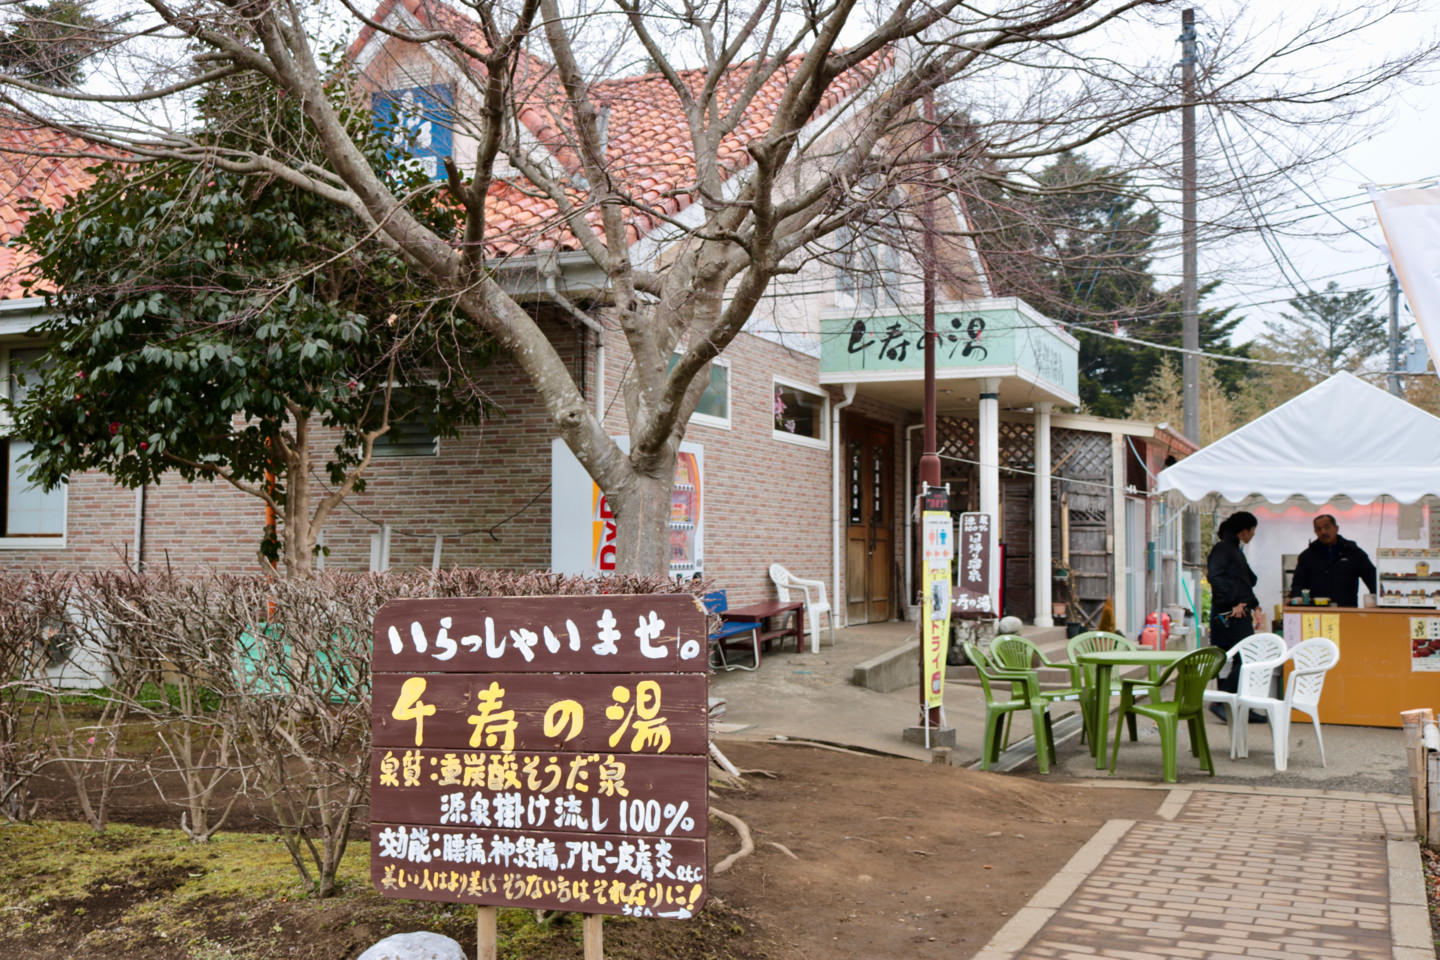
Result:
M369 802L370 638L383 603L704 587L500 570L0 576L0 816L33 813L26 784L48 763L65 769L96 832L127 773L180 806L196 842L249 799L327 897ZM125 750L151 737L154 748Z

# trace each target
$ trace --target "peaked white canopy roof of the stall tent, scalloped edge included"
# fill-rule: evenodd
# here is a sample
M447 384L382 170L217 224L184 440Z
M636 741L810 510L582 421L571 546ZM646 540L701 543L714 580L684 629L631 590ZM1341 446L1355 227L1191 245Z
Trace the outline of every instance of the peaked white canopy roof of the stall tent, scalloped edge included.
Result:
M1440 417L1338 373L1161 471L1171 504L1440 495Z

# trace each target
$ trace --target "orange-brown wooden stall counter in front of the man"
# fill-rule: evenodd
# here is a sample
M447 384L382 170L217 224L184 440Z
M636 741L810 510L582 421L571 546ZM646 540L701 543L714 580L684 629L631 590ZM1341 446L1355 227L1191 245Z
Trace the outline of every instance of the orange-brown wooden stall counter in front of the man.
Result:
M1284 639L1341 648L1325 678L1322 724L1400 727L1400 711L1440 708L1440 609L1284 607Z

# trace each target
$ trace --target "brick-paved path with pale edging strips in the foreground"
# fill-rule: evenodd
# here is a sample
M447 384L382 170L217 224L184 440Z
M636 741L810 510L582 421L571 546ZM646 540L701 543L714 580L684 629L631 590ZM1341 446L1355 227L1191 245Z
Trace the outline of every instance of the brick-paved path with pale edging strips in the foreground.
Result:
M1410 820L1388 794L1175 789L1153 820L1106 823L976 960L1434 960Z

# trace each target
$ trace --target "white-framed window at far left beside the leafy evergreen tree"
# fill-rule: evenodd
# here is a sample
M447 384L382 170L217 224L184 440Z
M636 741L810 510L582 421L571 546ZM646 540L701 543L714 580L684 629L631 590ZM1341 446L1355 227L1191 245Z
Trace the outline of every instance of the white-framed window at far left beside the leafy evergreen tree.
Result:
M35 386L33 374L48 364L43 347L16 347L0 350L4 357L6 396L20 402ZM29 384L24 383L29 380ZM9 423L0 425L9 427ZM16 438L0 436L0 458L4 474L0 475L0 550L49 550L65 545L65 484L52 491L26 479L30 472L27 453L32 443Z

